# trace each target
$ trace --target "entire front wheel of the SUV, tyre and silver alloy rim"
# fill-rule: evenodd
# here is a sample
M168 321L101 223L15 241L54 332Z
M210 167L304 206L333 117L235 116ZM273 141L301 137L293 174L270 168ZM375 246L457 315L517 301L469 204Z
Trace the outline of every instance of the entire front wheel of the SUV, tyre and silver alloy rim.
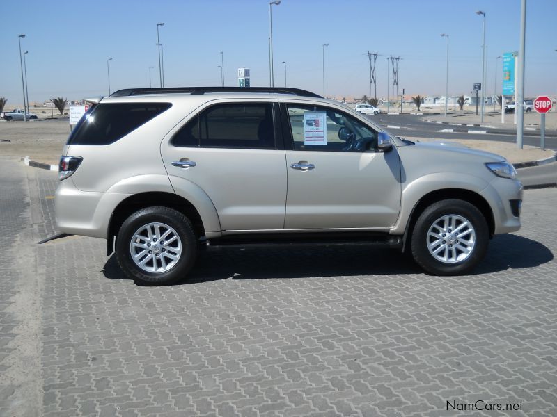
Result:
M453 229L459 230L456 236ZM432 275L464 275L480 263L488 243L489 229L478 208L460 199L446 199L425 208L418 217L411 253Z

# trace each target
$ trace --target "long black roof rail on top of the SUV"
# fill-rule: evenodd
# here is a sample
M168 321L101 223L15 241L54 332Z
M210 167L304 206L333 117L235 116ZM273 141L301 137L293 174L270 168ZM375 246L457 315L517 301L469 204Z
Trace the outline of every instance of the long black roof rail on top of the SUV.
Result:
M113 92L110 97L125 97L132 95L153 95L175 92L189 92L190 94L205 94L206 92L268 92L291 94L304 97L319 97L315 92L290 87L164 87L164 88L125 88Z

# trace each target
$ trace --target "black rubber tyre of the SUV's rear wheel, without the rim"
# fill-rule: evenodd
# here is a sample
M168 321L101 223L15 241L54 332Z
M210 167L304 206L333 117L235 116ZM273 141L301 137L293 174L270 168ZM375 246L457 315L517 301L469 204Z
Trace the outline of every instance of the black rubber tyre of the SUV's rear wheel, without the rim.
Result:
M154 273L137 266L130 253L133 234L145 224L159 222L172 227L182 243L178 263L168 272ZM191 222L179 211L168 207L148 207L136 211L123 222L116 238L116 259L127 277L143 285L168 285L186 277L196 261L196 235Z

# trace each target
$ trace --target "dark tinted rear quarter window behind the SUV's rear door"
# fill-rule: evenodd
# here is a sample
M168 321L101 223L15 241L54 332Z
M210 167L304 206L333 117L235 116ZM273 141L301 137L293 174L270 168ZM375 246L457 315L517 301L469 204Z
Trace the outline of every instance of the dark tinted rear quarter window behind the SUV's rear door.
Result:
M68 145L109 145L171 108L170 103L97 104L77 123Z

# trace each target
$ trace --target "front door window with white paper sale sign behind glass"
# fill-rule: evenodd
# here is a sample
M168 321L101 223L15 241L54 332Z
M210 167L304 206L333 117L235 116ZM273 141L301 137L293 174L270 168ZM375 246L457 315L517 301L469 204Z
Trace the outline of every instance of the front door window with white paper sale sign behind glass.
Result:
M333 108L288 105L292 149L296 151L364 152L377 146L377 133Z

